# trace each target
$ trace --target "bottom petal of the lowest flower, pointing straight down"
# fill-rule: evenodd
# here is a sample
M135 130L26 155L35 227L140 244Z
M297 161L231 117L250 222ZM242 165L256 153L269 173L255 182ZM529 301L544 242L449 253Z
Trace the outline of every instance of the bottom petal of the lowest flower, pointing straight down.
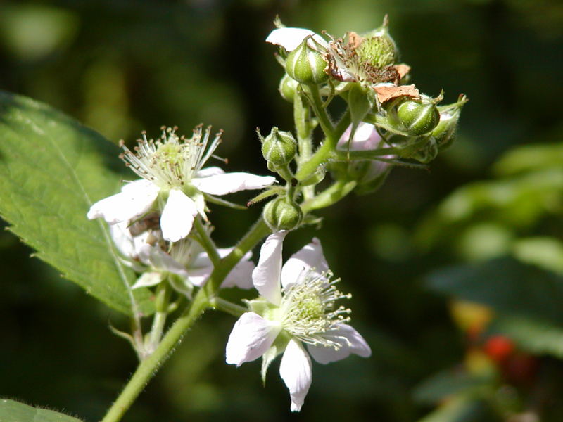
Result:
M279 376L291 397L291 411L300 411L312 381L311 359L301 342L292 338L279 364Z

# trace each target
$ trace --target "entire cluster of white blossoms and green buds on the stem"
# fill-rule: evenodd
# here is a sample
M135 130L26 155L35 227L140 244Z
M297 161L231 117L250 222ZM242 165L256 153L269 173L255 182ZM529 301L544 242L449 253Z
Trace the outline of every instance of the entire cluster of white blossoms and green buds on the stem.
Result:
M280 94L293 103L296 131L273 127L267 136L258 130L258 138L267 169L278 177L204 167L218 158L222 132L212 137L210 127L198 126L186 138L176 128L163 128L160 139L143 134L133 150L122 144L122 160L140 179L126 181L120 193L94 203L87 217L109 224L123 262L139 274L132 289L154 289L158 295L171 288L187 300L196 291L205 293L209 307L239 317L227 340L227 364L261 357L265 380L281 355L279 374L289 389L291 410L299 411L312 381L311 357L327 364L350 354L369 357L371 350L350 326L350 309L339 304L350 295L337 288L340 279L329 270L320 241L313 238L282 264L284 238L320 221L311 210L328 207L352 190L376 190L393 166L434 159L453 141L467 98L438 106L442 94L431 98L410 84L410 67L399 62L386 19L376 30L342 38L277 25L266 41L279 46L285 70ZM346 103L339 122L329 113L334 98ZM324 139L315 145L317 125ZM327 174L334 182L329 187L321 184ZM270 229L256 265L251 250L265 231L258 230L262 237L252 245L247 234L241 241L245 248L240 243L217 248L208 220L208 203L229 205L217 197L244 190L260 190L248 204L269 198L254 226ZM201 289L217 267L220 285ZM221 288L235 286L254 288L258 297L245 300L245 307L220 298ZM158 312L167 315L173 307ZM153 327L162 330L162 319L155 317ZM161 332L150 334L158 341Z

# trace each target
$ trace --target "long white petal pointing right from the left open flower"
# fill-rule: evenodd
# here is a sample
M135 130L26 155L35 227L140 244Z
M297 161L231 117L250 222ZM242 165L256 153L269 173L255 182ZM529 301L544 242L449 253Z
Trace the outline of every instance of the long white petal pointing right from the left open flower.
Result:
M210 195L227 195L248 189L261 189L276 182L273 176L257 176L251 173L224 173L210 177L191 179L191 184Z

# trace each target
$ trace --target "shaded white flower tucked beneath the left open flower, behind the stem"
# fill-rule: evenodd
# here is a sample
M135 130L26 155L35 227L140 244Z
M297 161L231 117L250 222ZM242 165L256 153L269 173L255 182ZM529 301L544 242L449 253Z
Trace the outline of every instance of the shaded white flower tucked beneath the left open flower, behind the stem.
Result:
M220 257L225 257L232 249L219 248L217 252ZM221 283L221 288L252 287L251 274L254 263L250 260L251 256L251 252L243 256ZM191 297L194 286L203 286L213 271L213 262L209 255L191 238L174 243L170 254L158 246L142 245L139 249L139 260L148 267L148 271L139 277L132 288L156 286L169 274L175 274L177 277L169 278L172 287L188 297Z

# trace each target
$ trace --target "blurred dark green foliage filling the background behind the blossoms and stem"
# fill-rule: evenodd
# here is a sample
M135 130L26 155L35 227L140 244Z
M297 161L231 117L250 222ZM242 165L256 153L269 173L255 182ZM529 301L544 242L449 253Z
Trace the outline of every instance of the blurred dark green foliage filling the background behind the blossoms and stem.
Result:
M429 172L397 168L377 193L324 213L322 231L288 238L287 253L321 238L373 350L315 365L303 411L291 417L515 422L541 411L541 421L561 421L560 1L4 1L0 88L114 141L163 124L184 133L213 124L225 129L217 153L229 170L267 174L255 127L293 126L263 42L275 15L339 34L371 30L385 13L419 88L443 88L445 103L462 91L470 102L454 146ZM213 207L218 243L236 241L259 212ZM126 321L30 260L12 234L0 234L0 247L0 394L98 420L134 369L134 353L108 329ZM483 356L482 339L467 340L446 298L493 308L481 335L504 333L537 355L533 380L509 379ZM125 420L289 419L275 364L265 389L258 363L224 364L233 323L206 314Z

